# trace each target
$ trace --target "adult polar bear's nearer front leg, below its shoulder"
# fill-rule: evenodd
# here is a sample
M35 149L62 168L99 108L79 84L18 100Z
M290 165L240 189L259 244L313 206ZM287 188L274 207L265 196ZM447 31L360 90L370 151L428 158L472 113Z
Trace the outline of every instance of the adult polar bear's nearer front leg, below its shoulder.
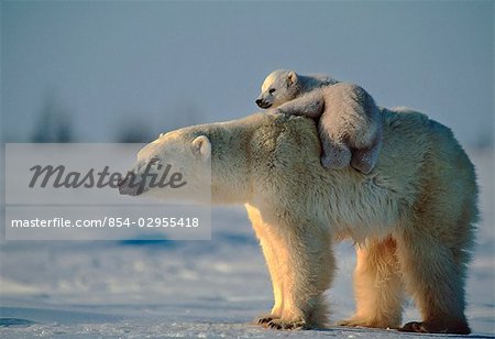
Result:
M327 226L277 212L271 225L278 237L278 263L283 285L283 311L267 324L274 329L322 328L327 324L323 293L329 287L334 260ZM307 217L307 214L304 214Z

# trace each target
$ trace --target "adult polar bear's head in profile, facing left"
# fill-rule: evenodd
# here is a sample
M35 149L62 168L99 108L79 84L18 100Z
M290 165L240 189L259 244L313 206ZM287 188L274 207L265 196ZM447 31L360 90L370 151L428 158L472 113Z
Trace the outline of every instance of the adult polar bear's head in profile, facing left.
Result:
M119 192L168 201L207 203L211 196L211 144L199 130L185 128L145 145L119 182Z

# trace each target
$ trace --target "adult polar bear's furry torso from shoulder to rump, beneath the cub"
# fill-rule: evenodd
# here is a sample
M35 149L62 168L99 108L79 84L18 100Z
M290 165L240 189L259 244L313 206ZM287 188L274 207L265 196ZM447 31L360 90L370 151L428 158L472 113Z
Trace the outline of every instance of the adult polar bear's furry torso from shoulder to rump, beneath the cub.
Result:
M323 215L338 237L359 241L369 236L372 225L376 236L388 232L426 190L449 192L455 166L462 168L457 185L475 190L472 165L448 128L411 110L381 109L381 117L383 149L375 170L363 175L351 167L332 171L321 166L311 119L251 116L246 120L255 121L251 153L257 154L252 165L254 196L297 201L305 214Z

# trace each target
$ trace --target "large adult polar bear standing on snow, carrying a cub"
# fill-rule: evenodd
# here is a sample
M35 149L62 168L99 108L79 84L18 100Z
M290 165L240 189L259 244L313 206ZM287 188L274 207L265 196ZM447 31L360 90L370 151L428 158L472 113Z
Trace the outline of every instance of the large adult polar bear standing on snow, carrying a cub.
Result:
M364 175L323 170L315 122L257 113L180 129L139 154L150 162L211 165L213 203L245 204L270 269L275 305L260 322L314 328L327 322L323 292L334 273L332 242L358 245L355 315L346 326L397 328L403 287L422 321L406 331L469 333L464 280L477 218L474 168L451 131L419 112L381 109L384 144ZM136 195L124 181L122 194ZM161 196L160 189L145 194Z

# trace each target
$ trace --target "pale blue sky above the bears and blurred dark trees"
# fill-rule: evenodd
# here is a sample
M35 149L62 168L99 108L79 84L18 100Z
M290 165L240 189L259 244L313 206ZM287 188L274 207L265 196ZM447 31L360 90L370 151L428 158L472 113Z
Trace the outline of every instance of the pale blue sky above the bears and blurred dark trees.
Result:
M267 73L294 68L419 109L470 145L493 133L493 1L2 1L4 138L26 141L47 96L82 142L135 119L154 133L235 119L258 110Z

